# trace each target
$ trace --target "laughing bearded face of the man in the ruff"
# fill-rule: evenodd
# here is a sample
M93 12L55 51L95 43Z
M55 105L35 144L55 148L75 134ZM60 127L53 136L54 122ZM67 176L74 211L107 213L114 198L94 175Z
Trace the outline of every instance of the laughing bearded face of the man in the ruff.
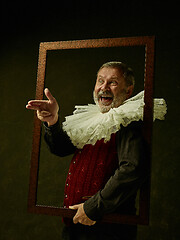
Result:
M104 67L97 75L94 101L101 112L119 107L127 99L127 86L123 74L116 68Z

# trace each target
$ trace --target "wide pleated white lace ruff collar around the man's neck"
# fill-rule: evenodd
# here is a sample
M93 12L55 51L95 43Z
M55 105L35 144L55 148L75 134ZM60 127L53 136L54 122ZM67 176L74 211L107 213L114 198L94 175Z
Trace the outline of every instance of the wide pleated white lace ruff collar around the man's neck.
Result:
M112 133L120 130L121 125L126 127L133 121L143 120L143 107L144 91L106 113L101 113L95 104L75 106L73 115L66 117L63 122L63 130L80 149L86 144L94 145L97 140L104 139L107 142ZM165 100L154 99L154 120L163 120L166 111Z

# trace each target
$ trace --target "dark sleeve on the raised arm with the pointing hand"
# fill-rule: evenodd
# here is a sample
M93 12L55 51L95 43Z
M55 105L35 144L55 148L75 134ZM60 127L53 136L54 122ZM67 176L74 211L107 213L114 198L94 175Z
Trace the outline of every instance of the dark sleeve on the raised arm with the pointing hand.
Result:
M59 121L50 127L47 126L47 123L44 123L44 127L44 139L53 154L65 157L75 152L76 147L72 144L68 135L61 128Z

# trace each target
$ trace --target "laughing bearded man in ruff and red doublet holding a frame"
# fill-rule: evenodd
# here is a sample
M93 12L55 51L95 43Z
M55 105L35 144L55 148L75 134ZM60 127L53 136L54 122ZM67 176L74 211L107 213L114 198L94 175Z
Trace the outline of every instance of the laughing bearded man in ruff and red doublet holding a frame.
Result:
M108 62L97 73L96 104L77 107L62 126L59 106L47 88L48 100L31 100L26 106L37 110L44 122L50 151L61 157L74 154L64 207L77 212L73 220L64 219L64 239L136 239L136 226L99 221L106 213L135 214L136 192L148 175L142 99L127 100L133 88L132 69L121 62Z

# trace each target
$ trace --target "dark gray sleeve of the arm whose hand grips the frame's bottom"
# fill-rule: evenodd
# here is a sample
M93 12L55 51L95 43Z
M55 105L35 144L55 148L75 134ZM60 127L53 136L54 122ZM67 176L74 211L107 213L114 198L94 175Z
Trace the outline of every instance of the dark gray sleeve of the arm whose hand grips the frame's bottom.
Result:
M116 212L136 194L148 175L141 124L122 127L116 136L119 167L104 188L84 203L86 215L94 221Z

